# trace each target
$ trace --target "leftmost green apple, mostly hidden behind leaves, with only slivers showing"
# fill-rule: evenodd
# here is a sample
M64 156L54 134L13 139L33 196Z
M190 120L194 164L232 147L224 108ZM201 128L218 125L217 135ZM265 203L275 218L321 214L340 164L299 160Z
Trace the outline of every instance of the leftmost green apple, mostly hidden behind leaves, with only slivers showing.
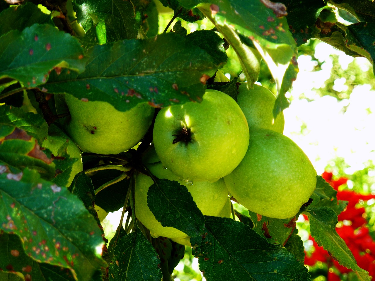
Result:
M68 138L67 135L65 135L65 133L61 129L59 129L54 124L49 125L48 136L43 141L42 147L48 148L53 155L57 156L58 149L66 142L69 142L66 152L71 158L78 158L78 160L72 164L71 170L69 169L70 176L67 183L65 184L65 186L68 187L71 185L74 176L83 170L81 150L71 139Z

